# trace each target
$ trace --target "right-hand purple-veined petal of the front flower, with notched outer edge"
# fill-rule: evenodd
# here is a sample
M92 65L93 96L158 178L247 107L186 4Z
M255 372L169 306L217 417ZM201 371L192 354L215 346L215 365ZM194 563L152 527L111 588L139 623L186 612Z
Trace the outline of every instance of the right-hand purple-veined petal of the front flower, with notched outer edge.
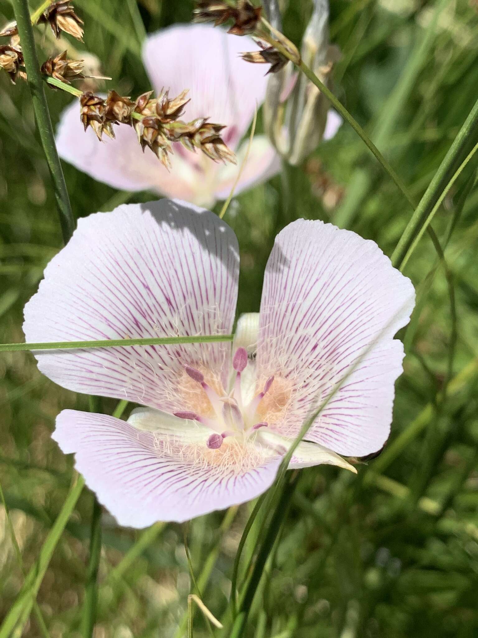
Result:
M305 438L345 456L379 450L402 372L403 346L393 335L413 306L410 280L375 242L321 221L287 226L264 277L259 385L275 379L259 405L261 419L295 436L366 353Z

